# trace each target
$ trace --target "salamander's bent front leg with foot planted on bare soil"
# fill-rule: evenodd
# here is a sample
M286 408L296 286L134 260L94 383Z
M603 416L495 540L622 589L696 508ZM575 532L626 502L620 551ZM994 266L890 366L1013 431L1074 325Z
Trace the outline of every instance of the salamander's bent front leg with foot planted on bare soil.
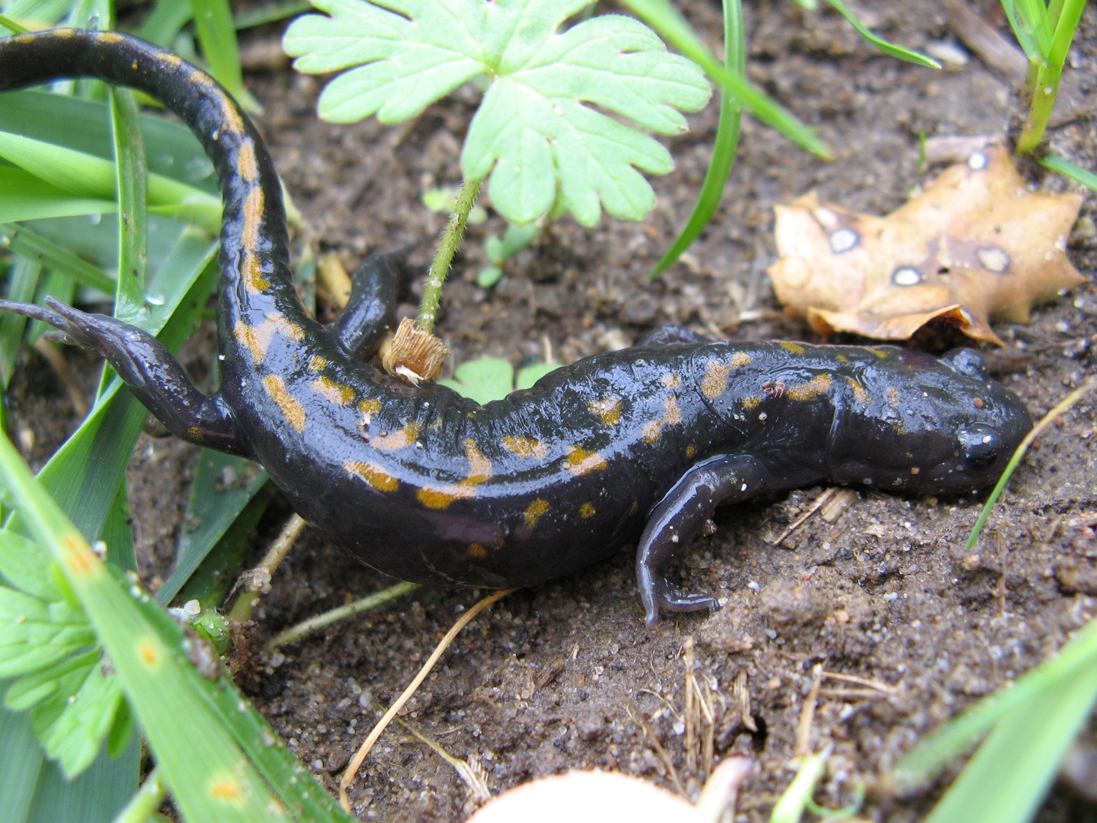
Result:
M636 549L636 585L648 627L659 622L659 609L715 610L711 595L685 595L664 576L678 552L689 545L722 503L743 500L765 491L768 476L755 458L721 455L698 463L682 475L652 509Z

